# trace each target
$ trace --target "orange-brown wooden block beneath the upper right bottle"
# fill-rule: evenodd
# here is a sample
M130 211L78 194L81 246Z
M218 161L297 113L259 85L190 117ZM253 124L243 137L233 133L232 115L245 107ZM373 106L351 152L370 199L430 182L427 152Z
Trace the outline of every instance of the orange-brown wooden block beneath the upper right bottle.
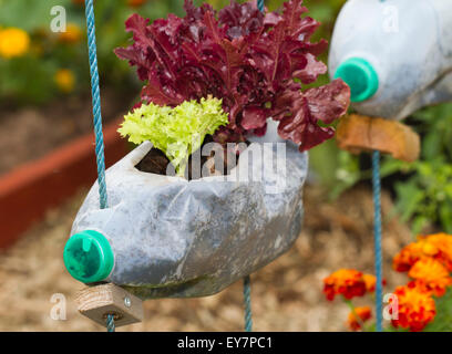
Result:
M336 139L353 154L379 150L408 163L417 160L421 149L419 135L408 125L358 114L340 119Z

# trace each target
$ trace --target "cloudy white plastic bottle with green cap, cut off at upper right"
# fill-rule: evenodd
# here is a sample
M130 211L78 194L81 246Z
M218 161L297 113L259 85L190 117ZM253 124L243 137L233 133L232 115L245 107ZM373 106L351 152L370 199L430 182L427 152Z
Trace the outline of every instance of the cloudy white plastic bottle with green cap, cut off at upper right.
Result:
M402 119L452 101L451 0L347 1L328 66L363 115Z

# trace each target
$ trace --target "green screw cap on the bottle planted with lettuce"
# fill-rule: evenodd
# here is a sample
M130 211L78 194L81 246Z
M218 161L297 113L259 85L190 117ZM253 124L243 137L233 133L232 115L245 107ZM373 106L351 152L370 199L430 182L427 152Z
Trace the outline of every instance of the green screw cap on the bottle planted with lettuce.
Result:
M63 259L69 273L83 283L104 280L114 264L110 242L94 230L72 236L64 247Z

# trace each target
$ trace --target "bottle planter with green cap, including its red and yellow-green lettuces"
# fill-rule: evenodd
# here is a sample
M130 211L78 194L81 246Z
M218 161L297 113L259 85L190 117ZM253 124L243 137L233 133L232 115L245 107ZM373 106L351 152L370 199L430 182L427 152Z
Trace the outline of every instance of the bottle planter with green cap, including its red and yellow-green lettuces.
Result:
M106 171L107 208L95 184L80 209L64 251L74 278L203 296L290 248L306 150L332 137L350 95L341 80L301 91L327 71L301 2L261 13L187 0L185 18L126 21L133 44L115 53L146 84L120 132L141 145Z

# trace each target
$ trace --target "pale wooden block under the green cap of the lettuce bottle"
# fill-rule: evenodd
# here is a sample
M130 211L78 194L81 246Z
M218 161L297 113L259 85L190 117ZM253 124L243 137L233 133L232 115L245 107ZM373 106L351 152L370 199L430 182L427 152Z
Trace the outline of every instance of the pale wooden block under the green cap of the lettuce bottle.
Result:
M81 290L75 302L81 314L105 327L109 314L116 327L143 321L142 301L112 283Z

